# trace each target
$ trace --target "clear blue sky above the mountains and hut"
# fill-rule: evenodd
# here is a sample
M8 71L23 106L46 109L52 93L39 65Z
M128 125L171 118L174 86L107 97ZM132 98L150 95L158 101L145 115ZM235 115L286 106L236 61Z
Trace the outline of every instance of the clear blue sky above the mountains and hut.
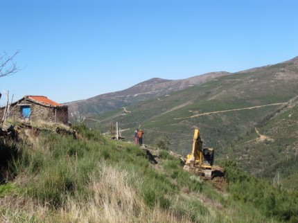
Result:
M298 55L297 0L1 0L0 91L70 102L150 78L236 72ZM3 105L3 97L0 105Z

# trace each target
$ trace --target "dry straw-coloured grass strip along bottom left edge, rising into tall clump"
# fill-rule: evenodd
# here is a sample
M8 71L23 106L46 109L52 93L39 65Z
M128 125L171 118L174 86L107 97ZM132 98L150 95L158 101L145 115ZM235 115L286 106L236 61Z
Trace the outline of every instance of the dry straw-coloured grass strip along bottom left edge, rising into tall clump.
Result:
M191 222L158 206L148 208L129 184L131 179L142 184L141 177L105 163L98 168L102 171L91 177L92 195L84 204L68 197L62 208L55 210L11 193L1 199L2 222Z

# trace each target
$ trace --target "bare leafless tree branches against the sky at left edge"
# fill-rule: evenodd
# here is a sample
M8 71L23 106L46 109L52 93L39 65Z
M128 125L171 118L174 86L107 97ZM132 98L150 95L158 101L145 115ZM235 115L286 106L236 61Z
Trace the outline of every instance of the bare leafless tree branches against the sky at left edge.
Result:
M13 61L18 53L19 51L16 51L13 55L8 55L8 53L4 51L3 55L0 55L0 78L19 71L17 63Z

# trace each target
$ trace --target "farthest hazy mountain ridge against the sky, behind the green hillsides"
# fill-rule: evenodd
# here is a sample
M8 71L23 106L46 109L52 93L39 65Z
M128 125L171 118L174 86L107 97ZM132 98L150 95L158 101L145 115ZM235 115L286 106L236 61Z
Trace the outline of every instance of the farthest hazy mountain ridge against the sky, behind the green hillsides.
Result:
M123 91L105 93L86 100L69 102L67 105L69 107L69 113L80 111L81 114L87 116L91 114L103 114L105 111L112 111L114 109L129 106L134 102L148 100L150 98L162 96L166 93L196 86L213 78L218 78L227 74L229 73L212 72L182 80L152 78Z

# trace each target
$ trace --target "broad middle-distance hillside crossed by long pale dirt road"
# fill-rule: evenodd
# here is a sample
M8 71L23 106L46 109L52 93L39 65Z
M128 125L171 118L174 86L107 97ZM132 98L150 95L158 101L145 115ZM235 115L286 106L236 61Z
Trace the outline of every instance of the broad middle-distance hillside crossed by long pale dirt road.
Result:
M197 126L204 143L220 151L238 134L297 96L297 77L297 65L293 62L263 67L250 73L226 75L96 118L101 121L103 132L116 121L123 130L130 128L123 132L128 139L141 125L148 144L167 135L170 148L182 154L189 151L190 136Z

